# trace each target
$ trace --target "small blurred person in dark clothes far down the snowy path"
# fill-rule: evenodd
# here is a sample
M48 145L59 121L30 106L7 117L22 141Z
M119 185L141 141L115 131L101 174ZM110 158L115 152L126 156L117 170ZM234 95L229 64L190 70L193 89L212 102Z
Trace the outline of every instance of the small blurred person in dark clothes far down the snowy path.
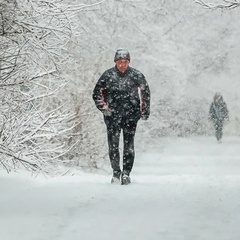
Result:
M213 122L215 128L215 136L217 141L220 142L223 135L223 125L226 120L229 119L227 104L223 100L220 93L216 93L213 97L209 110L210 119Z

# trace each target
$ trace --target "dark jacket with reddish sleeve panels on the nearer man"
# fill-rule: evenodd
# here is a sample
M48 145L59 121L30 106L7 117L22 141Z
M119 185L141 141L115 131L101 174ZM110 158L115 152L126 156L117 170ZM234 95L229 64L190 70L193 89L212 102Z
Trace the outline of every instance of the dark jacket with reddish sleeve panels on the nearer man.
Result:
M112 117L124 117L129 120L147 119L150 114L150 89L144 75L128 67L122 73L117 67L105 71L99 78L94 90L93 100L97 108L104 113L99 99L108 104Z

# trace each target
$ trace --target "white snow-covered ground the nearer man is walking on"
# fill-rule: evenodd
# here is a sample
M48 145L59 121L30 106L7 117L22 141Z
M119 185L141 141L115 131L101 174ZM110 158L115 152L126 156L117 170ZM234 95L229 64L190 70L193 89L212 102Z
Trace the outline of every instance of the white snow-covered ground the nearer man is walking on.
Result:
M2 240L239 240L240 138L162 139L132 184L111 170L51 179L0 172Z

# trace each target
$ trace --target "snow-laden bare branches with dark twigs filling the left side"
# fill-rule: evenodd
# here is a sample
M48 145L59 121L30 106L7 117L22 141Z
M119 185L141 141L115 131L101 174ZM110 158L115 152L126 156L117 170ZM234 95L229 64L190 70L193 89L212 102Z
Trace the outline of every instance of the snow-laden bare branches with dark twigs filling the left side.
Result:
M7 171L19 165L52 171L80 140L73 136L81 120L71 98L60 94L71 80L62 73L74 64L67 49L78 33L72 19L84 7L55 0L0 3L0 165Z

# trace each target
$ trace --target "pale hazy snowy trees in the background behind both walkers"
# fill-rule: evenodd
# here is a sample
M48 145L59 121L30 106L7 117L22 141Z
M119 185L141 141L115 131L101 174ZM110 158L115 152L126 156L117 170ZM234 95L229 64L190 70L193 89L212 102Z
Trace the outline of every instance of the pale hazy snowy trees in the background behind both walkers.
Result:
M128 48L130 65L143 72L152 92L151 116L139 122L136 147L147 148L157 136L212 134L208 111L216 91L229 106L228 134L239 134L235 131L239 97L236 91L231 93L239 88L237 9L210 12L187 0L110 0L78 19L86 34L77 40L83 49L73 53L79 64L74 92L77 97L85 95L93 131L89 137L94 136L88 141L98 159L106 132L91 91L103 71L114 65L118 47Z

